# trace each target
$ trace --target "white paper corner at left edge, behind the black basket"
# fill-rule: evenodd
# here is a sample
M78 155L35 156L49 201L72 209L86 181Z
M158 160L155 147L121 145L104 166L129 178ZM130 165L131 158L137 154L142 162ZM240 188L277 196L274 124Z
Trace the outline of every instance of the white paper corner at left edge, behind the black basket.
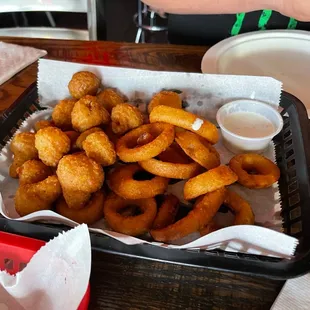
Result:
M0 85L46 54L33 47L0 42Z

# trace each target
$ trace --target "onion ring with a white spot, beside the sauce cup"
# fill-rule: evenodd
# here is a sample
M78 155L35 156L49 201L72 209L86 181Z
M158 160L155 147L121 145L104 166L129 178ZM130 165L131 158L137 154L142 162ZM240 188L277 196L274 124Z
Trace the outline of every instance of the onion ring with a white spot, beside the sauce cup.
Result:
M163 122L187 129L202 136L211 144L215 144L219 139L219 133L215 125L182 109L159 105L152 110L150 122Z

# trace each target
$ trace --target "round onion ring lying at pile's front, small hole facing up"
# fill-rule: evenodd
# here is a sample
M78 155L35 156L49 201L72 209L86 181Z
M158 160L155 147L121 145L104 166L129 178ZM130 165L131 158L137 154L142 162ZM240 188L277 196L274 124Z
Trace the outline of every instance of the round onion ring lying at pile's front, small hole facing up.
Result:
M136 216L121 215L123 209L136 205L142 214ZM104 203L104 217L116 232L139 236L149 231L156 216L157 206L154 198L126 200L111 193Z

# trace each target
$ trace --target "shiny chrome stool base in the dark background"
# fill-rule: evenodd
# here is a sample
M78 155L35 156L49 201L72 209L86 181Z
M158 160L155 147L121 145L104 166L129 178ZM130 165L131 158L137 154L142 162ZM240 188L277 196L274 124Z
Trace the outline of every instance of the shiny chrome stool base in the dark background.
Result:
M145 32L166 32L167 26L160 25L157 20L157 14L149 6L138 0L138 13L134 15L134 23L138 28L135 43L145 43Z

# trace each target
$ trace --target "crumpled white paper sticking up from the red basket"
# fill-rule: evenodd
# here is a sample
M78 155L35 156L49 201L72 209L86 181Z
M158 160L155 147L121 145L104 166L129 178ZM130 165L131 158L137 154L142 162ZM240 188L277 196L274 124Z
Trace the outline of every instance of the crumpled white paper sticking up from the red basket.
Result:
M15 276L0 271L0 309L76 310L90 269L90 238L83 224L48 242Z

